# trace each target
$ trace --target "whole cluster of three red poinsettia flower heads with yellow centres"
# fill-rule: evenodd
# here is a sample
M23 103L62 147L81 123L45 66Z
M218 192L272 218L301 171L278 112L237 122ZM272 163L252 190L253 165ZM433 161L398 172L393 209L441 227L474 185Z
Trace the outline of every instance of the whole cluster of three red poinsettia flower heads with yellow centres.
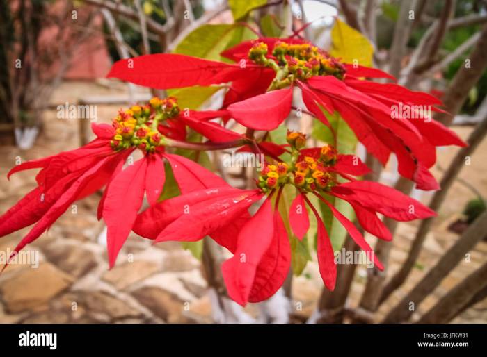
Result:
M399 174L414 181L417 188L436 190L438 183L429 172L436 161L436 147L464 143L434 120L392 119L390 115L391 106L401 103L442 111L436 97L394 83L369 81L365 78L394 78L372 67L345 63L294 38L243 41L221 56L232 63L175 53L115 63L109 77L150 88L229 84L219 110L189 110L180 108L175 97L154 97L120 110L111 124L93 124L95 140L79 149L14 167L8 176L40 169L38 187L0 217L0 236L35 224L15 248L19 251L39 238L72 202L104 188L97 215L108 228L110 267L130 231L154 242L195 242L210 236L233 254L223 263L223 277L230 297L245 305L268 299L284 283L292 262L291 235L302 240L308 232L308 209L317 219L319 272L326 288L335 288L333 246L323 214L312 203L314 197L369 254L372 248L335 207L334 199L348 202L362 229L383 240L392 236L378 213L398 221L435 215L393 188L358 179L369 168L357 156L337 151L340 136L329 118L338 115L383 165L394 153ZM332 133L330 142L307 148L309 140L303 133L287 131L287 143L268 135L289 117L296 93L308 113ZM216 118L221 122L212 121ZM246 133L228 128L231 119L244 126ZM190 140L188 128L207 141ZM255 131L264 135L256 138ZM266 160L255 187L241 190L177 155L175 148L235 148L262 154ZM136 150L143 157L124 168ZM170 199L162 195L165 161L180 192ZM294 188L294 197L289 210L282 212L280 202L286 188ZM144 196L149 207L141 212ZM250 206L259 206L253 215ZM372 257L376 267L383 269Z

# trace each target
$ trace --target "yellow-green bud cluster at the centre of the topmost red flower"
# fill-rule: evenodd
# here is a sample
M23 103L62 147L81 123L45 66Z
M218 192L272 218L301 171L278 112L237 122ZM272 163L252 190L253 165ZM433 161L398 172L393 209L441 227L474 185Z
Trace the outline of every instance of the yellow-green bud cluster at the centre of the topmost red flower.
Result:
M271 67L276 71L272 89L285 88L294 79L305 81L312 76L335 76L343 79L345 69L336 58L311 44L274 44L272 57L264 42L256 42L248 51L248 58L258 65ZM277 62L276 62L277 60Z

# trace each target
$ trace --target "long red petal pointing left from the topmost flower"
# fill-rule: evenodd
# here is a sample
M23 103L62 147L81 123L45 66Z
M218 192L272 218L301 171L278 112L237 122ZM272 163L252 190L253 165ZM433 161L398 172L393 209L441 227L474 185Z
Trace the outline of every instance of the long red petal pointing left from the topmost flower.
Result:
M238 65L172 53L119 60L108 78L119 78L150 88L168 89L225 83L246 73Z

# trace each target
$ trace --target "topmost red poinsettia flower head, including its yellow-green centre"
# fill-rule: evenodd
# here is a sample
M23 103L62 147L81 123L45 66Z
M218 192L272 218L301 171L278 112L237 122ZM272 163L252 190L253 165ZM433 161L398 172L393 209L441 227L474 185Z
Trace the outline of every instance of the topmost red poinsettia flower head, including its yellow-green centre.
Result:
M465 145L453 131L429 117L392 119L393 106L442 111L436 108L441 104L439 99L393 83L364 81L360 78L392 76L340 63L307 42L260 38L238 44L222 56L238 64L160 54L119 61L109 76L154 88L232 82L223 102L225 119L233 117L258 130L272 130L282 123L289 115L297 86L306 108L321 122L329 126L322 109L340 113L370 153L383 165L394 153L399 174L422 190L439 188L429 172L436 162L436 147Z

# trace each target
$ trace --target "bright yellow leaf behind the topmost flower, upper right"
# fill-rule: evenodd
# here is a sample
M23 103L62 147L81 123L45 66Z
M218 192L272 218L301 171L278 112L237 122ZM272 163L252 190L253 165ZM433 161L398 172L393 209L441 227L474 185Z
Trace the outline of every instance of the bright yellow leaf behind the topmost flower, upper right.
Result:
M331 30L330 54L342 58L345 63L356 63L370 67L372 66L374 47L362 33L351 28L340 19L335 19L335 24Z

